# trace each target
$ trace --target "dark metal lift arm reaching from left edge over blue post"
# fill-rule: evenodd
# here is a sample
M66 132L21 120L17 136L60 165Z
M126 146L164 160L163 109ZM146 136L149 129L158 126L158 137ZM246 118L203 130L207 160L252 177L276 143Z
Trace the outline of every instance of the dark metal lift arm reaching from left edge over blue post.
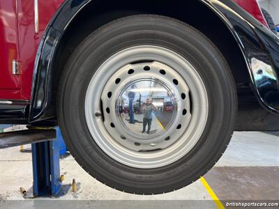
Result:
M56 139L56 130L20 130L0 133L0 149Z

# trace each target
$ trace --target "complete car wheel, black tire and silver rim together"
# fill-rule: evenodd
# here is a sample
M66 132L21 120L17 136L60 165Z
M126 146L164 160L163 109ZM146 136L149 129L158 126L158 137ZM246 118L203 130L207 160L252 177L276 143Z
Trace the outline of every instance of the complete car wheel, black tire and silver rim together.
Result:
M188 24L156 15L94 31L59 85L59 125L75 160L135 194L174 191L204 175L229 144L235 114L222 54Z

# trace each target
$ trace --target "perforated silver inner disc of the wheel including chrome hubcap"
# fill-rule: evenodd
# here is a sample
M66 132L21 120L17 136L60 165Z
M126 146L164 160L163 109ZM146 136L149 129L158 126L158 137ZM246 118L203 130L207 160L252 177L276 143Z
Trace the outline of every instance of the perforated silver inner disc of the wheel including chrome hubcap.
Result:
M101 96L107 132L130 150L167 148L190 122L188 95L183 78L163 63L125 65L105 84Z

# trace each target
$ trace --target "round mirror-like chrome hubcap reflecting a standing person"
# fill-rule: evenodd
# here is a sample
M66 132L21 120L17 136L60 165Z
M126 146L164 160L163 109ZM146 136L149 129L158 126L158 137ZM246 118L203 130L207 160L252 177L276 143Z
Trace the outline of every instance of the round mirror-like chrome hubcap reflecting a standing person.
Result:
M153 78L131 82L116 100L117 116L124 130L143 140L164 134L174 121L176 107L171 89Z

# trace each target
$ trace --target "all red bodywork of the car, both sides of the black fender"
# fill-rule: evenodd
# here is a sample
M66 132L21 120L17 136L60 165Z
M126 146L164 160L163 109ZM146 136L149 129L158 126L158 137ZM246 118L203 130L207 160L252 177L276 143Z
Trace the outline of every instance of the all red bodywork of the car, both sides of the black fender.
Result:
M0 0L0 99L30 100L33 65L47 24L64 0L38 0L39 33L34 32L34 1ZM267 26L256 0L234 0ZM12 61L20 61L13 75Z

